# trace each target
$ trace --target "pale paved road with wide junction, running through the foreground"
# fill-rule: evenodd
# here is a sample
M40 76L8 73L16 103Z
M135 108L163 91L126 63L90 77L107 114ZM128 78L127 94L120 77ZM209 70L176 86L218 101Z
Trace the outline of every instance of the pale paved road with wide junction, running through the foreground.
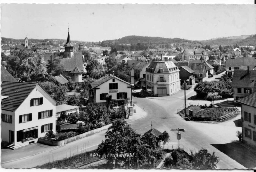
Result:
M187 91L187 98L195 95L195 92L191 89ZM164 98L164 99L162 99ZM183 105L183 91L171 96L171 97L158 97L153 98L136 98L134 101L138 102L141 108L144 108L148 113L147 116L130 122L130 125L138 133L145 133L151 129L151 121L153 121L153 128L159 131L167 131L171 137L171 142L177 141L176 132L171 132L172 128L184 128L187 131L182 133L182 139L180 144L186 145L193 152L197 152L201 148L206 148L209 152L216 152L220 159L217 167L219 169L246 169L244 166L237 163L235 160L229 158L218 149L214 148L211 144L223 144L229 143L230 140L236 140L234 127L227 128L227 126L218 127L211 124L195 123L192 121L185 121L179 115L176 115L176 109ZM8 162L1 164L3 168L32 168L36 165L52 162L52 160L60 160L68 156L73 155L74 150L77 147L78 152L84 151L84 144L87 146L89 141L89 150L96 149L98 144L105 138L106 131L102 131L95 135L86 137L75 142L71 142L64 146L56 147L51 151L46 151L34 156L30 156L21 160ZM231 133L231 134L230 134ZM233 134L232 134L233 133ZM82 150L81 150L82 149ZM71 153L70 153L71 152Z

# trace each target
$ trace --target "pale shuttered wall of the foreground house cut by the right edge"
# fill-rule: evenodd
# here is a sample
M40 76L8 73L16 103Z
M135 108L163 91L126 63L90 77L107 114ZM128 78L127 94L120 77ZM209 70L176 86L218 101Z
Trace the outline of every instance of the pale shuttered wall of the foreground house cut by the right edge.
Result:
M251 122L249 120L245 121L246 118L244 116L244 112L251 114ZM248 143L250 145L256 146L256 108L248 105L242 104L241 113L242 113L242 132L243 132L243 142Z

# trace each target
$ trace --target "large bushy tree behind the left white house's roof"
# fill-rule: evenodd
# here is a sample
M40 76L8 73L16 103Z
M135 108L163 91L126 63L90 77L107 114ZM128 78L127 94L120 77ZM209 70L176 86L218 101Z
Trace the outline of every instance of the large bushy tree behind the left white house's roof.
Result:
M45 80L48 75L44 66L44 57L41 52L32 50L20 50L7 61L7 70L14 74L14 77L21 78L26 82Z

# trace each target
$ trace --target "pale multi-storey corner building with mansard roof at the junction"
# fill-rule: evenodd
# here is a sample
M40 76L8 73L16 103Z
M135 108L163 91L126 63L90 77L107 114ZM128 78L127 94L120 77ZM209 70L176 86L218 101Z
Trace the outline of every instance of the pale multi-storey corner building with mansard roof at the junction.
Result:
M179 71L172 61L152 61L146 68L146 91L155 96L180 91Z

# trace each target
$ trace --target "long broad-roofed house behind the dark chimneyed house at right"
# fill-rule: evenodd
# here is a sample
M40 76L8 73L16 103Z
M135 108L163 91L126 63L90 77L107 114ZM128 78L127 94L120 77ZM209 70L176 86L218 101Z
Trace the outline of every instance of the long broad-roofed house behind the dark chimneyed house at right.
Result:
M256 58L239 57L235 59L228 59L226 61L226 74L233 76L235 69L240 69L241 66L256 66Z

